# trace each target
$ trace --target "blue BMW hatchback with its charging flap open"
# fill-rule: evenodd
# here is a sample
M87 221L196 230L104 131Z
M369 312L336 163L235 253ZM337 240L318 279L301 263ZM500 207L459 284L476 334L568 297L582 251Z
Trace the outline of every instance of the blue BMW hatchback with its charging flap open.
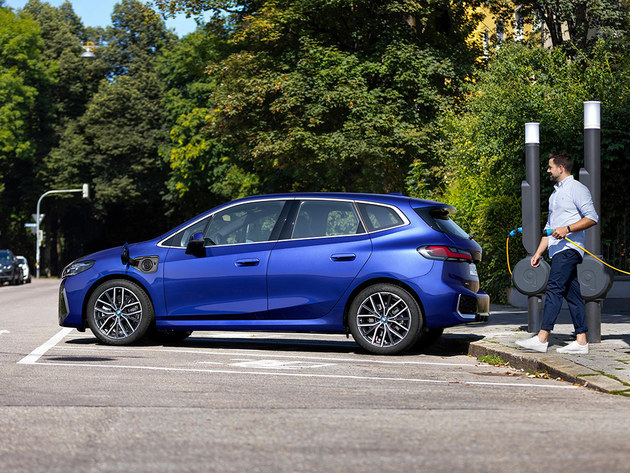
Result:
M68 265L59 324L103 343L194 330L351 333L399 354L486 320L481 247L445 204L303 193L229 202L154 240Z

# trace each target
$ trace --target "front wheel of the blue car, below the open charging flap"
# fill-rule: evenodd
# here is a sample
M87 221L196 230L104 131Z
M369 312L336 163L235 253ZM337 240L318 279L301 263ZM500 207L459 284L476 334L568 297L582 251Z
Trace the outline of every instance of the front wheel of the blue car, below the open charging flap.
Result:
M147 293L126 279L112 279L98 286L86 310L90 330L108 345L129 345L140 340L155 317Z

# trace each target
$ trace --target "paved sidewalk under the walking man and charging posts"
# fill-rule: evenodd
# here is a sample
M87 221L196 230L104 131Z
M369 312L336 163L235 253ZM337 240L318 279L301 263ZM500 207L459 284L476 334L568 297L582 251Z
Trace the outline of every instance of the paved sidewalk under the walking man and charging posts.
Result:
M468 354L477 358L499 356L513 368L546 372L609 393L630 395L630 307L628 312L602 314L602 342L589 344L588 355L567 355L556 349L574 340L568 310L562 310L549 339L547 353L517 347L516 340L531 337L527 332L527 310L492 305L488 322L460 325L444 331L448 341L468 345Z

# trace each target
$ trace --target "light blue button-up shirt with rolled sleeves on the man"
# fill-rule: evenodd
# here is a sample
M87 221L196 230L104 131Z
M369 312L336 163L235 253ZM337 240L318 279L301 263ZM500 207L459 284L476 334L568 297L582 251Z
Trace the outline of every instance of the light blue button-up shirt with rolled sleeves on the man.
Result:
M554 185L554 191L549 197L549 217L547 218L546 229L566 227L576 223L582 218L589 218L594 222L599 221L591 193L584 184L576 181L573 176L565 177L562 181ZM567 235L578 245L584 247L586 244L586 231L571 232ZM549 257L560 251L573 249L584 256L584 251L569 243L566 239L558 240L553 236L549 237Z

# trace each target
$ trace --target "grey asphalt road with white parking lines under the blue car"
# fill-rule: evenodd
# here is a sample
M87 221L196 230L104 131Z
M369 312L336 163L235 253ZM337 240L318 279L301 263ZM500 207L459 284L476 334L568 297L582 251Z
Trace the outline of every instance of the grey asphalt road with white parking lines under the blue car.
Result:
M196 332L108 347L57 325L54 280L0 287L0 472L623 472L630 399L445 341Z

